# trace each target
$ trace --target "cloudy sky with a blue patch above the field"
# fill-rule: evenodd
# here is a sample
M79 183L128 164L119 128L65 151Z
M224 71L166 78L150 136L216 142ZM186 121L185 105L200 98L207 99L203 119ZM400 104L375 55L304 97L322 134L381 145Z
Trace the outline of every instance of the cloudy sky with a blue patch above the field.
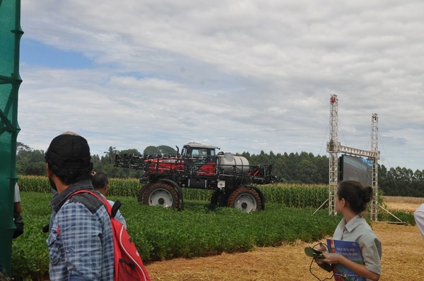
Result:
M424 169L424 1L22 0L18 141L92 154L189 141Z

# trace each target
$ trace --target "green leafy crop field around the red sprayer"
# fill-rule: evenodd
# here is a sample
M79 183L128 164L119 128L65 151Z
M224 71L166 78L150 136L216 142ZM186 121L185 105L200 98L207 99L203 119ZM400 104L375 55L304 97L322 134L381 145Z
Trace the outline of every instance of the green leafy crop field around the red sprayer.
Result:
M52 194L45 177L20 177L25 233L13 240L15 280L43 280L48 275L47 235ZM326 186L261 186L265 210L244 213L211 208L212 191L184 189L184 210L140 204L136 179L110 180L108 198L122 201L128 231L144 263L177 257L197 257L249 251L254 246L278 246L302 240L314 242L331 235L340 216L315 210L328 196ZM409 218L411 219L411 218ZM412 218L413 220L413 218Z

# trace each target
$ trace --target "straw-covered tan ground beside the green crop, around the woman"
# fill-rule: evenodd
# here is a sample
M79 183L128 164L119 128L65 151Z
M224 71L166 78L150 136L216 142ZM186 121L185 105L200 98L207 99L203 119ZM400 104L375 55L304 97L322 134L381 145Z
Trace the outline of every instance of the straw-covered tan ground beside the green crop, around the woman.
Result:
M382 240L381 281L424 280L424 240L417 227L375 222L375 233ZM177 258L146 265L152 280L317 280L310 273L311 259L304 254L305 244L256 248L248 253L223 253L206 258ZM312 265L321 280L331 274ZM334 280L334 279L333 279Z

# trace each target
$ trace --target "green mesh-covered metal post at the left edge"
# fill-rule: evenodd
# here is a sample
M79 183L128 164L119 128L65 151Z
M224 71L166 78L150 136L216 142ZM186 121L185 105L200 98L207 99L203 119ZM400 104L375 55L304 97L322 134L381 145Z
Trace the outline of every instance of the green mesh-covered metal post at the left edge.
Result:
M20 0L0 0L0 269L11 275L18 126Z

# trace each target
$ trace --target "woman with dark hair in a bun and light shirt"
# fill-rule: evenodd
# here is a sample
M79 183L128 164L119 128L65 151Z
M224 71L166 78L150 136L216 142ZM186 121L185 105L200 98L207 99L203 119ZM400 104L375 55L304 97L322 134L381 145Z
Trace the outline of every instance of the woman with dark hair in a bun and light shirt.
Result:
M338 253L324 252L324 263L341 263L367 280L379 280L382 267L382 243L362 217L367 203L372 199L372 188L358 181L341 181L337 186L336 212L343 219L334 231L333 239L356 241L359 244L364 264L355 263Z

